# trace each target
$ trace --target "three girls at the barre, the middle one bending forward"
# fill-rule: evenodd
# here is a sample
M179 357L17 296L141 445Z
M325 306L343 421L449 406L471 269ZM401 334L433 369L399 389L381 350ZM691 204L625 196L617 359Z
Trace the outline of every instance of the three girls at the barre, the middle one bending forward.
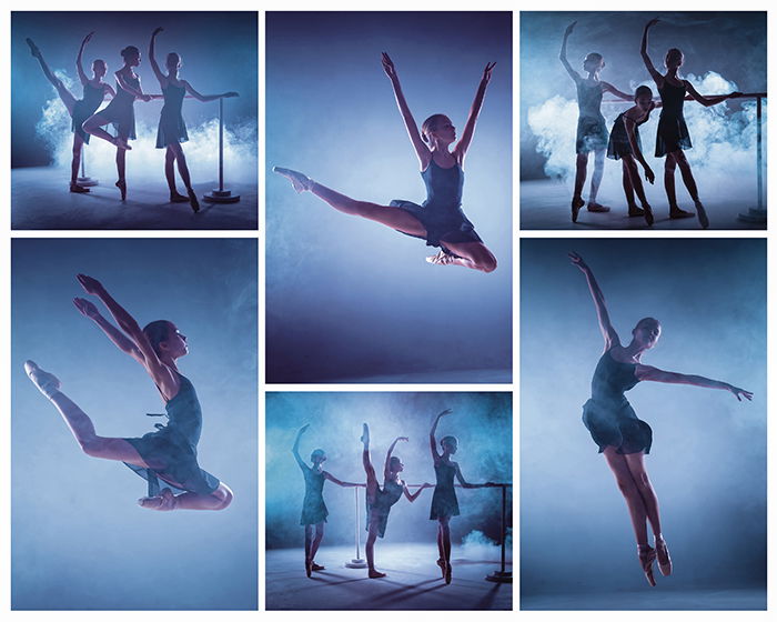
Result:
M675 170L679 167L685 187L690 194L696 215L704 229L709 227L709 219L704 204L699 200L698 188L690 170L690 164L685 157L684 150L690 149L690 136L688 127L683 117L683 103L685 100L695 100L705 107L715 106L730 98L740 97L739 92L731 92L726 96L704 97L699 94L694 86L679 77L678 71L683 66L684 56L677 48L672 48L666 52L664 64L666 73L662 74L650 61L647 53L648 31L658 23L658 19L650 20L643 32L640 53L645 67L655 82L660 101L653 100L653 90L647 86L640 86L632 96L619 91L612 84L599 80L599 73L604 69L602 54L592 52L583 61L583 70L587 73L582 78L566 59L566 43L569 34L577 22L571 23L564 32L564 41L559 53L562 64L569 73L577 88L577 103L579 118L577 121L576 140L576 173L575 189L572 198L572 220L577 222L577 214L585 204L583 200L583 185L586 178L586 168L591 152L594 152L594 173L591 179L591 194L588 198L588 211L606 212L609 208L597 202L596 195L602 182L604 172L605 152L607 158L623 161L623 188L628 203L628 215L644 217L647 224L654 222L653 210L645 195L645 189L639 178L637 162L642 164L645 179L653 183L655 174L645 161L642 142L639 139L639 126L645 123L655 108L662 108L658 119L658 131L656 136L656 158L665 158L664 163L664 188L669 202L669 218L693 218L694 213L682 210L677 204L675 191ZM602 97L605 92L634 101L635 106L618 116L613 124L612 132L607 132L604 117L602 116ZM642 203L642 209L637 207L634 195L637 195Z

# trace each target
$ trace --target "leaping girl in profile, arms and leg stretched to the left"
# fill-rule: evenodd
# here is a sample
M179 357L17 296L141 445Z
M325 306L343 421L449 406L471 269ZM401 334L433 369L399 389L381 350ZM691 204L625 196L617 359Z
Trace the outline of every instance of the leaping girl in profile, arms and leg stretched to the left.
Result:
M77 309L92 320L122 352L132 357L149 373L165 402L168 424L157 424L155 432L141 438L100 437L89 415L61 391L59 379L33 361L24 371L38 390L59 410L75 441L87 455L118 460L148 480L149 494L138 503L149 510L224 510L233 493L198 464L196 445L202 430L202 410L191 381L178 369L178 359L189 352L185 335L167 320L151 322L141 330L130 315L97 280L79 274L89 294L108 308L119 328L103 318L90 301L75 298ZM170 488L159 491L159 480Z

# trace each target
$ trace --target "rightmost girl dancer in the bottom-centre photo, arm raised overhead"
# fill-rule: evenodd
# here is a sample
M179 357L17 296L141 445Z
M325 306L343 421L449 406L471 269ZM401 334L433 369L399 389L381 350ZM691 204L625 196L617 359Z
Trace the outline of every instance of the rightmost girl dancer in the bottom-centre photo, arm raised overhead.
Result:
M453 411L448 409L437 414L434 418L434 423L432 423L432 431L428 433L432 460L434 460L434 474L437 478L428 518L431 521L437 521L438 523L437 550L440 558L437 559L437 565L443 573L446 584L451 583L451 528L448 523L451 522L451 516L458 515L458 500L456 499L453 479L456 478L462 488L492 488L496 485L493 482L471 484L464 480L458 463L451 460L451 457L458 450L458 439L456 437L443 437L440 439L440 448L443 450L443 453L437 453L437 441L434 438L437 423L451 412Z

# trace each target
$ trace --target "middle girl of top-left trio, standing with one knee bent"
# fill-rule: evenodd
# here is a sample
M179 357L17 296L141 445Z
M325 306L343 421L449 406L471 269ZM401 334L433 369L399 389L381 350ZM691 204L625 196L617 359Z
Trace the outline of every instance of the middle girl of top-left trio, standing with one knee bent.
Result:
M111 103L83 122L83 131L115 146L117 171L119 173L115 187L121 192L121 200L124 201L127 200L127 151L132 149L128 141L138 138L135 136L134 101L135 99L151 101L154 98L143 92L140 76L133 69L140 64L140 50L134 46L128 46L121 51L121 58L124 60L124 64L114 72L117 96L111 100ZM113 123L117 130L115 137L102 129L109 123Z

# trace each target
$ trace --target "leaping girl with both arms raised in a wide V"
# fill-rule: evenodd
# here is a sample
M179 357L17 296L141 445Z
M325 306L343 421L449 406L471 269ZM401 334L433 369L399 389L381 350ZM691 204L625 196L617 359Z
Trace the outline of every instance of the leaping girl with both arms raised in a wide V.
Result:
M394 63L385 52L382 63L391 80L400 113L421 164L421 177L427 192L426 201L422 205L403 200L394 200L389 205L357 201L313 181L299 171L280 167L274 167L273 171L286 177L297 192L312 192L337 211L373 220L401 233L421 238L426 240L428 247L440 247L436 255L426 258L430 263L463 265L483 272L494 271L496 258L464 215L461 202L464 158L472 142L486 87L496 63L488 63L483 70L464 132L452 150L451 146L456 140L456 129L451 119L445 114L433 114L423 122L418 131L402 92Z

